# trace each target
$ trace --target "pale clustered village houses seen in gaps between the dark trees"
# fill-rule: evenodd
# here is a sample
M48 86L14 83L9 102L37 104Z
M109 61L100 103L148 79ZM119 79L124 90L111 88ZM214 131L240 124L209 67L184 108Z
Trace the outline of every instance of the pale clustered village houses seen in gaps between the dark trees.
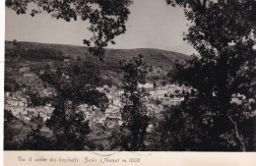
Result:
M182 100L182 91L189 91L186 86L177 86L175 84L167 84L165 86L154 87L153 83L139 84L140 88L145 88L150 94L146 103L148 114L155 117L160 117L160 112L163 110L163 105L177 105ZM103 85L97 87L97 90L105 92L108 98L108 107L102 111L96 106L83 104L79 109L85 113L85 119L90 122L90 125L102 124L108 128L114 128L116 125L122 124L121 119L121 95L123 90L116 86ZM51 90L44 89L41 94L44 96L50 95ZM160 104L151 102L152 100L160 100ZM50 116L53 107L50 105L29 107L29 96L24 91L6 92L5 93L5 109L10 110L17 118L25 121L31 121L32 117L40 116L45 122Z

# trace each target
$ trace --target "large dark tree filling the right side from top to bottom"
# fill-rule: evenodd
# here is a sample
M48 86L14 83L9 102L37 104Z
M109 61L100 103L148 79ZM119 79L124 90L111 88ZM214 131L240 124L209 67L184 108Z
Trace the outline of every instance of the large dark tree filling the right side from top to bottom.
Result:
M184 7L186 39L198 51L177 65L175 81L191 85L183 109L208 133L205 150L252 150L255 134L255 0L167 0ZM244 96L242 104L231 102ZM249 121L249 122L248 122Z

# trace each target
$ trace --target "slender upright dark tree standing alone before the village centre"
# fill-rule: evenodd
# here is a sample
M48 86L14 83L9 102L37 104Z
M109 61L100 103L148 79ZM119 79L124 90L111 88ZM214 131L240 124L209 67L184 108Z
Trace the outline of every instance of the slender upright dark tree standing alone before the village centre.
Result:
M146 79L148 66L142 61L142 55L134 57L130 62L123 62L124 76L122 80L123 124L113 132L112 147L121 146L127 151L137 151L145 148L146 130L149 125L147 108L144 104L146 93L138 87Z

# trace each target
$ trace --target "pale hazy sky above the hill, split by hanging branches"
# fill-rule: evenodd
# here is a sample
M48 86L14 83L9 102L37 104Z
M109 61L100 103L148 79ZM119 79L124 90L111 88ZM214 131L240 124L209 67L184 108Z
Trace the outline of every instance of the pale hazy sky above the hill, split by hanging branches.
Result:
M108 48L159 48L184 54L194 52L183 41L187 21L182 9L166 5L166 0L134 0L126 24L127 31L115 38ZM6 40L34 41L83 45L90 38L88 25L82 21L65 22L52 19L48 14L16 15L6 8Z

